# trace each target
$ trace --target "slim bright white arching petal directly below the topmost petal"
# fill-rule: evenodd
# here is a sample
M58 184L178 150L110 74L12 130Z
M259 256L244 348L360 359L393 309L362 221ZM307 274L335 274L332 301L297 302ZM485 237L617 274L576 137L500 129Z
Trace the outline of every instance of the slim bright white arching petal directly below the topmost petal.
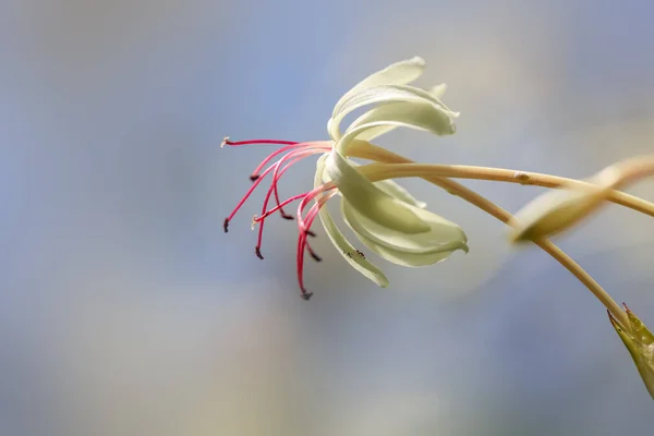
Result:
M388 105L393 102L424 102L450 112L452 117L459 116L458 112L450 110L440 99L427 90L407 85L379 85L362 89L344 100L340 110L327 123L329 135L335 141L340 138L340 123L353 110L368 105Z

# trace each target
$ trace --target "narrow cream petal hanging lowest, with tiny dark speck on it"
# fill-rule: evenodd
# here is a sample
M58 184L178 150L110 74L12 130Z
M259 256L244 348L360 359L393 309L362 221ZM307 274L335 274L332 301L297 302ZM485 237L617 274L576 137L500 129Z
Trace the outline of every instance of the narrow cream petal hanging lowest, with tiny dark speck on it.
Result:
M326 155L322 156L318 159L316 175L314 180L314 185L319 186L323 183L323 172L325 170L325 159ZM352 244L346 239L343 233L338 229L334 219L331 219L331 215L326 207L323 207L318 213L320 218L320 222L325 228L325 232L329 237L331 243L338 249L339 253L343 256L343 258L359 272L363 276L367 277L377 286L382 288L386 288L388 286L388 279L376 265L365 258Z

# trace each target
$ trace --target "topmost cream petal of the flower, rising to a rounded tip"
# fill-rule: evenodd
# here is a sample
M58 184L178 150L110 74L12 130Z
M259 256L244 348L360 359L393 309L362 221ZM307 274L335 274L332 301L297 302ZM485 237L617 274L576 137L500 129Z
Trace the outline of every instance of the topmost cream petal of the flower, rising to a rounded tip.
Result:
M334 107L332 118L341 111L341 107L354 94L366 88L379 85L405 85L420 77L425 70L425 61L420 57L413 57L400 62L392 63L384 70L377 71L359 82L338 100Z

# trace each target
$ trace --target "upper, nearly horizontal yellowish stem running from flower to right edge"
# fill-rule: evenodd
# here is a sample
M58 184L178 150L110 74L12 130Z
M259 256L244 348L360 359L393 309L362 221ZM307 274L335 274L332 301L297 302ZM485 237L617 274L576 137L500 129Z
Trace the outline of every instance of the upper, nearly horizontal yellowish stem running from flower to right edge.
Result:
M464 165L415 164L401 155L395 154L376 145L365 143L363 141L355 142L351 145L349 156L359 157L363 159L371 159L379 162L393 164L392 169L389 169L392 171L393 178L421 177L421 174L432 174L445 178L476 179L519 184L531 184L543 187L586 187L593 185L592 183L583 182L580 180L567 179L562 177L530 171L517 171L511 169L473 167ZM653 159L646 160L647 165L643 165L642 160L640 164L637 164L635 161L632 162L631 168L629 170L626 170L627 172L629 172L629 174L628 177L625 177L625 180L633 181L637 178L642 178L645 173L651 174L654 167ZM625 161L623 165L626 166L627 161ZM374 166L375 164L372 164L371 167ZM368 171L364 168L365 167L361 167L360 170L362 172ZM623 184L625 182L621 181L620 185ZM614 190L608 194L607 201L616 203L620 206L629 207L630 209L640 211L641 214L654 217L654 203L644 201L634 195L629 195L623 192Z

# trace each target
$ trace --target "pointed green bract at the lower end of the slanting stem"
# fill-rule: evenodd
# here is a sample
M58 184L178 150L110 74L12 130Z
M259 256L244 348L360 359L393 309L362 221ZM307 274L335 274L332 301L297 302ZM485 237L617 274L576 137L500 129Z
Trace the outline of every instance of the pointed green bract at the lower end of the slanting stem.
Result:
M654 398L654 335L626 304L623 306L629 319L628 325L620 324L610 312L608 319L625 342L647 391Z

